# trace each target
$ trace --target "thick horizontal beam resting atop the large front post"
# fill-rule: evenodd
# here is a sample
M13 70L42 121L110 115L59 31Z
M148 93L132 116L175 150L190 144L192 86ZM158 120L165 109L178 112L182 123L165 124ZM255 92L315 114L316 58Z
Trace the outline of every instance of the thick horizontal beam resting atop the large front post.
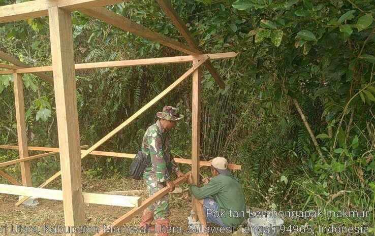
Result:
M35 0L0 7L0 23L48 16L48 8L69 11L128 2L130 0Z

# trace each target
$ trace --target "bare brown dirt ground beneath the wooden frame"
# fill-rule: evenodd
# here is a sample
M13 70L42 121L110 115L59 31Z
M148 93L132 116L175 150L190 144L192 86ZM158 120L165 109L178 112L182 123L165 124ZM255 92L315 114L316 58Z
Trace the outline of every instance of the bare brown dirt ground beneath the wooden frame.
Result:
M135 181L130 179L109 179L109 180L92 180L83 179L83 191L93 193L103 193L107 191L120 190L139 190L146 189L143 181ZM187 185L180 186L184 191L182 193L173 193L169 195L169 203L171 209L171 224L173 226L181 227L185 232L189 230L187 227L187 217L191 210L191 196L187 190ZM143 199L147 197L142 195ZM0 197L0 235L64 235L61 233L49 233L44 230L44 225L64 225L64 210L62 201L39 199L39 205L36 207L16 207L18 196L2 194ZM114 220L131 210L124 207L113 207L104 205L85 204L84 219L86 226L102 227L104 224L109 225ZM138 226L141 216L134 217L125 226ZM7 225L7 234L4 226ZM36 233L12 233L11 225L35 226L40 230L40 234ZM3 226L3 227L2 227ZM213 225L211 225L213 226ZM52 228L49 228L52 229ZM28 229L32 232L33 229ZM94 233L86 233L84 235L93 235ZM188 233L184 233L189 235ZM113 235L129 235L129 233L117 233ZM134 233L133 235L154 235ZM170 235L181 235L181 233L174 233ZM232 235L226 233L210 234L216 235Z

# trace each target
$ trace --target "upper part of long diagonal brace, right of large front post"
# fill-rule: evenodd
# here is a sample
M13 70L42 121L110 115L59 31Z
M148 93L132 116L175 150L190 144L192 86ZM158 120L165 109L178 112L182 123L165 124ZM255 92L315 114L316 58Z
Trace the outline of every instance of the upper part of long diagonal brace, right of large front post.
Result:
M81 157L87 156L90 152L97 149L100 145L104 144L108 139L110 139L112 136L114 136L118 131L123 129L125 126L127 126L130 122L135 120L138 116L140 116L143 112L145 112L147 109L149 109L152 105L157 103L161 98L163 98L167 93L169 93L172 89L174 89L177 85L179 85L187 76L192 74L199 66L208 59L208 56L205 56L204 59L200 60L197 64L193 65L191 69L189 69L187 72L185 72L180 78L178 78L173 84L168 86L164 91L162 91L160 94L155 96L150 102L148 102L145 106L143 106L141 109L139 109L135 114L133 114L131 117L129 117L126 121L124 121L122 124L117 126L114 130L112 130L110 133L108 133L105 137L103 137L99 142L92 145L89 149L87 149L86 152L84 152Z

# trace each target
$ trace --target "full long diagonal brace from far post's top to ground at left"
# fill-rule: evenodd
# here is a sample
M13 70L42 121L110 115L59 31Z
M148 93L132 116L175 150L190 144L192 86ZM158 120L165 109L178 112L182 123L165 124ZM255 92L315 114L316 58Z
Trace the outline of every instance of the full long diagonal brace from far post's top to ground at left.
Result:
M127 126L130 122L135 120L138 116L140 116L143 112L145 112L147 109L149 109L152 105L157 103L161 98L163 98L167 93L172 91L177 85L179 85L186 77L191 75L204 61L208 59L208 56L205 56L204 59L200 60L199 63L196 64L196 66L193 66L190 70L185 72L180 78L178 78L175 82L173 82L168 88L166 88L164 91L162 91L159 95L154 97L150 102L148 102L145 106L143 106L140 110L138 110L135 114L133 114L131 117L129 117L126 121L121 123L119 126L117 126L114 130L112 130L110 133L108 133L105 137L103 137L100 141L98 141L96 144L92 145L87 151L84 151L81 154L81 158L86 157L88 154L90 154L92 151L97 149L100 145L105 143L108 139L110 139L112 136L114 136L117 132L119 132L122 128ZM56 91L56 89L55 89ZM76 107L76 106L75 106ZM60 158L61 159L61 158ZM50 177L48 180L46 180L43 184L39 186L39 188L44 188L49 183L51 183L53 180L55 180L57 177L61 175L61 171L54 174L52 177ZM19 201L17 201L16 206L21 205L25 200L27 200L29 197L25 196Z

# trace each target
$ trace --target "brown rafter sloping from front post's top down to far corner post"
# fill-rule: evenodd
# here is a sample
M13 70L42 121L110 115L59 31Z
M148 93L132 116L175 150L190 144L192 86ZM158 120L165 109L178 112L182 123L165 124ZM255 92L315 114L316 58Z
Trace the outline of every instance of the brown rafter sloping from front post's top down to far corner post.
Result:
M176 49L180 52L184 52L187 54L201 54L199 53L199 50L195 50L190 46L184 45L176 40L170 39L167 36L162 35L161 33L154 32L151 29L141 24L132 22L130 19L120 16L106 8L100 7L92 9L83 9L81 10L81 12L98 20L101 20L109 25L116 26L117 28L129 31L131 33L134 33L135 35L151 40L153 42L160 43L167 47Z

